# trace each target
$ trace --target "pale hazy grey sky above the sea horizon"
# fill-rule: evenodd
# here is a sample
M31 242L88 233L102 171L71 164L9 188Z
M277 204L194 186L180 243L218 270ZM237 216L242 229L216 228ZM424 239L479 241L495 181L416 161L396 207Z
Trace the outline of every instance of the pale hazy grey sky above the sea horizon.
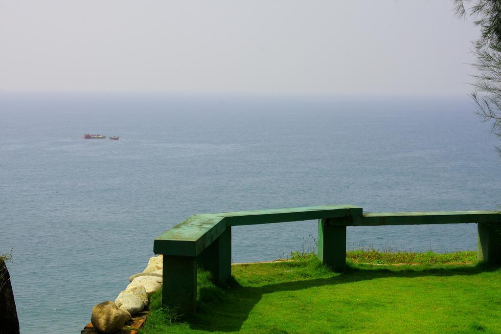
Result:
M452 95L452 0L0 0L0 91Z

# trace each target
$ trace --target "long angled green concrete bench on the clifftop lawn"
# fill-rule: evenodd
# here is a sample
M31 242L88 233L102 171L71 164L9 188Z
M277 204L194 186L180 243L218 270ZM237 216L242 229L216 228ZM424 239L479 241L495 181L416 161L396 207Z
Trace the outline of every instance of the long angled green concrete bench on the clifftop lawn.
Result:
M346 266L346 226L478 223L478 259L501 264L501 214L495 211L362 213L352 205L195 214L158 236L163 254L162 303L183 313L196 306L200 266L224 285L231 277L231 226L318 219L318 257L335 271Z

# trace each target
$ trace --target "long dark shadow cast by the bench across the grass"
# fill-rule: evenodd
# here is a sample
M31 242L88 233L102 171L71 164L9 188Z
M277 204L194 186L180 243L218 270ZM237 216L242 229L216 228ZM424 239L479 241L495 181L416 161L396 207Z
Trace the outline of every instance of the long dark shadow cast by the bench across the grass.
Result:
M479 263L474 266L431 267L414 269L374 268L373 266L348 265L341 274L327 278L314 278L263 285L259 287L241 286L232 277L231 282L221 291L218 287L201 287L197 312L185 320L191 329L206 331L239 331L249 313L264 294L278 291L295 291L323 285L337 285L366 281L386 277L413 278L424 276L474 275L481 272L495 271L498 267Z

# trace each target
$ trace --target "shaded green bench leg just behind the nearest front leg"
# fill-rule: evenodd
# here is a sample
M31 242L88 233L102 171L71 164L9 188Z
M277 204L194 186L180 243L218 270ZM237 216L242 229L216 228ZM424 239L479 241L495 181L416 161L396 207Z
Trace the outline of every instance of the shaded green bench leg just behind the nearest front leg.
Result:
M197 256L197 263L211 272L215 283L226 284L231 277L231 226Z

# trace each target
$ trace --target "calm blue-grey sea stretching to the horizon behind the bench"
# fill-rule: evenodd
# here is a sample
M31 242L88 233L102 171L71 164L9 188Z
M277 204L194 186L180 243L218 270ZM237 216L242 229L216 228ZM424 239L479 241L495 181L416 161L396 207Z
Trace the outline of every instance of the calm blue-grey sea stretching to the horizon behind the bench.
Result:
M23 333L79 332L193 213L323 204L491 210L496 139L467 99L0 96L0 252ZM84 133L120 136L83 140ZM234 227L234 262L316 222ZM348 228L350 248L476 249L476 226Z

